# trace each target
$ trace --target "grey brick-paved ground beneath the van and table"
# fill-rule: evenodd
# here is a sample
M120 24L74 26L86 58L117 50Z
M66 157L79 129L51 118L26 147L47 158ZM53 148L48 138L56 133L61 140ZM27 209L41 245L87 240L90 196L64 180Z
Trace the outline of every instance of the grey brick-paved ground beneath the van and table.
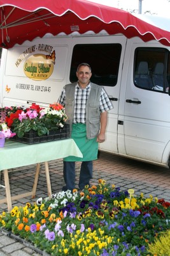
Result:
M78 183L78 170L80 163L76 165L76 183ZM26 166L13 169L9 173L11 195L18 195L31 191L34 179L36 165ZM49 162L50 180L52 184L52 193L60 191L64 185L62 177L62 159ZM127 159L124 157L114 156L112 154L101 152L99 159L94 161L94 177L92 184L97 184L98 179L105 179L110 184L120 187L121 190L132 188L136 195L141 192L145 196L150 194L158 198L164 198L170 202L170 170L152 164L142 163ZM3 174L1 175L1 184L4 184ZM0 188L0 199L4 198L4 188ZM38 188L36 198L22 198L14 201L14 205L25 205L26 202L35 202L40 196L45 197L47 194L45 167L41 164ZM7 211L6 204L0 205L0 212ZM15 237L6 236L0 232L0 256L38 256L41 252L34 251L31 244L15 240ZM45 253L43 254L45 256Z

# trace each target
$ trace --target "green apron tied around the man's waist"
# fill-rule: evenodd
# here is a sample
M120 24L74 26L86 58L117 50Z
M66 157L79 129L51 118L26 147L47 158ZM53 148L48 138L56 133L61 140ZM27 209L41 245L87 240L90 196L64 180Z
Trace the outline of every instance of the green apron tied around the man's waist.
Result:
M83 157L68 156L64 161L93 161L97 159L98 143L97 138L88 140L86 134L85 124L73 124L71 138L75 141L78 148L80 148Z

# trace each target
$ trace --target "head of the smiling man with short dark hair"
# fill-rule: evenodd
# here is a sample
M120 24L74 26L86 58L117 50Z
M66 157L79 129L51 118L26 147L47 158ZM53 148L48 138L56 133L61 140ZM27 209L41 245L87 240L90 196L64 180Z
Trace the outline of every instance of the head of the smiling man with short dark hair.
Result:
M81 63L77 67L76 76L78 77L78 82L81 88L85 88L90 81L92 76L92 70L88 63Z

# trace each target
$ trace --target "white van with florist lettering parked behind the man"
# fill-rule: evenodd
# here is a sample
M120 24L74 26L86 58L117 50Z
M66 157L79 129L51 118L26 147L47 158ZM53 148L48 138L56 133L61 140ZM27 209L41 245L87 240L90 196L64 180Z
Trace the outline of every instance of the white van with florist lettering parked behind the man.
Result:
M1 106L56 102L87 62L114 108L100 150L169 166L170 47L124 35L46 35L3 50Z

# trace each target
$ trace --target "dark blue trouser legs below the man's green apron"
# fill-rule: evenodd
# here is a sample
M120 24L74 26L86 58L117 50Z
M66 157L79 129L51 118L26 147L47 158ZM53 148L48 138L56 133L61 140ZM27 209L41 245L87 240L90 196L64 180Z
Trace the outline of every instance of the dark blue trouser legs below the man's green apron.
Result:
M66 186L64 186L63 190L67 189L73 190L75 188L75 162L67 162L64 161L64 181ZM84 161L81 163L80 168L80 177L78 186L82 190L86 185L90 185L90 179L92 179L92 170L93 170L93 162L92 161Z

